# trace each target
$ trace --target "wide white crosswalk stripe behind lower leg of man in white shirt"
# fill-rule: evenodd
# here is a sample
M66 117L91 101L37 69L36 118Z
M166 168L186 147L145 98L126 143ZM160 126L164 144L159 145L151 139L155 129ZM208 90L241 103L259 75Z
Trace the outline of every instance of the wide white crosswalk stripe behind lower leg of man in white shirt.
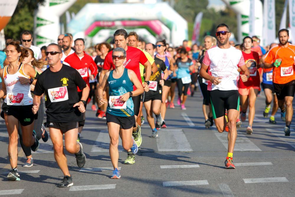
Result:
M227 149L227 132L215 132L215 135ZM258 148L258 146L256 146L252 141L250 141L246 135L239 133L237 135L234 151L261 151L261 149Z

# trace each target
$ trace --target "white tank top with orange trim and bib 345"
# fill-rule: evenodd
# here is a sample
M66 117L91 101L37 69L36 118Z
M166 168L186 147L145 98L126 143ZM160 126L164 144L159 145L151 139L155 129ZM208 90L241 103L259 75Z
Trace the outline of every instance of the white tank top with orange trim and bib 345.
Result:
M6 98L4 102L7 105L32 105L33 98L30 91L30 84L21 84L19 76L30 79L31 77L24 73L24 64L20 63L19 69L15 74L9 74L7 67L4 67L3 79L6 86Z

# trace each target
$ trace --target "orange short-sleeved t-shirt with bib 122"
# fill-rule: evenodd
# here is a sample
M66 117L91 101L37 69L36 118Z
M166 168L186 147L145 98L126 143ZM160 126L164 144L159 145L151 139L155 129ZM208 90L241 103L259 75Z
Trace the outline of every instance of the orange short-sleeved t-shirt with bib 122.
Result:
M281 65L273 67L273 83L286 84L295 80L294 75L294 60L295 60L295 45L288 44L288 47L278 45L273 47L265 56L264 61L272 64L276 59L282 59Z

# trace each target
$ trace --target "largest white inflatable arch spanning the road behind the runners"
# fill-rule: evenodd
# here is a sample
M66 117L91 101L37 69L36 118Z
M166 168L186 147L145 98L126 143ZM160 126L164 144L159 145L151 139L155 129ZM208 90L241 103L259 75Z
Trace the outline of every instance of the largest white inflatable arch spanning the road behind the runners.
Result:
M165 30L159 22L155 23L157 20L168 27L170 35L167 32L167 29ZM116 25L116 22L118 23L118 21L121 23L119 26ZM167 42L173 43L174 45L181 45L184 39L188 39L186 20L165 2L157 4L89 3L86 4L68 23L67 32L71 32L74 35L74 38L76 38L75 35L81 36L82 32L88 37L91 37L94 36L95 32L93 32L93 34L89 33L96 27L99 28L101 22L108 24L109 26L112 26L114 22L117 28L124 28L125 25L135 26L134 28L144 26L145 28L149 27L153 32L159 32L157 29L160 25L161 32L165 32L164 35L167 36L167 39L170 37ZM132 22L137 25L132 25ZM139 22L145 25L139 25ZM153 28L150 26L153 26Z

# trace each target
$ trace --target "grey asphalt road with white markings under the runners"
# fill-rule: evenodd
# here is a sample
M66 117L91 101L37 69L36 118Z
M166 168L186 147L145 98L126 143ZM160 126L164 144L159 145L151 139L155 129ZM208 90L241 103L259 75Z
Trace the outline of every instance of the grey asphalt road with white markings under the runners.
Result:
M21 181L6 179L10 170L8 134L1 119L0 196L295 196L295 131L291 129L291 136L284 136L280 113L276 114L276 125L263 118L263 93L256 102L253 134L246 134L247 123L238 128L235 170L224 168L227 133L218 133L214 126L204 127L201 104L198 91L188 97L187 110L179 106L168 109L168 128L161 129L157 139L149 137L151 129L145 122L135 164L124 165L127 153L119 153L119 180L110 179L113 169L106 121L96 118L88 105L81 135L87 161L79 168L74 155L66 153L74 183L69 188L57 187L63 174L50 139L47 143L41 140L39 150L33 153L33 167L22 167L26 159L19 145Z

